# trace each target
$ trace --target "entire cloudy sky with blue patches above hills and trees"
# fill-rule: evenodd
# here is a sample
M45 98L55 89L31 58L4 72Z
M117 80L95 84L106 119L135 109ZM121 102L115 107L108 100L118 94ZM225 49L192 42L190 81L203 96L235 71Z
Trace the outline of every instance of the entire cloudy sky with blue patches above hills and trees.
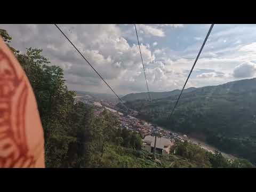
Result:
M59 25L117 94L147 90L134 25ZM0 24L11 45L43 49L69 89L111 93L54 25ZM137 25L150 91L181 89L210 25ZM187 87L255 77L256 25L215 25Z

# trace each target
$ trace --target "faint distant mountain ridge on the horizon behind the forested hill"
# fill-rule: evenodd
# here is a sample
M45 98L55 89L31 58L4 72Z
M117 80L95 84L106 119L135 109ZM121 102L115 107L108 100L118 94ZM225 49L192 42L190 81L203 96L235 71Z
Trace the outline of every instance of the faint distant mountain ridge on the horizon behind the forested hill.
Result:
M190 91L194 91L197 88L195 87L190 87L188 89L185 89L183 93L187 93ZM162 98L167 98L173 95L180 94L181 90L173 90L173 91L167 91L167 92L149 92L150 98L151 99L162 99ZM124 101L135 101L135 100L140 100L140 99L148 99L148 92L143 92L143 93L130 93L125 95L122 98Z

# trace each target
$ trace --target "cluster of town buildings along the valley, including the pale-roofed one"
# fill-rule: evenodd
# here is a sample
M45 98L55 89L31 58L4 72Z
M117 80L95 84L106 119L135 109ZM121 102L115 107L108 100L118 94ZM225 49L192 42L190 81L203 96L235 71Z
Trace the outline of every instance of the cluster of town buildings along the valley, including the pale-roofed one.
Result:
M163 130L161 127L135 118L134 115L138 113L137 111L132 111L130 114L123 114L118 112L115 110L116 103L114 101L98 101L94 100L94 98L90 95L85 95L84 97L76 97L76 101L82 101L89 105L94 105L95 116L100 116L105 109L110 110L119 119L120 124L118 127L121 129L136 131L141 134L143 138L143 149L149 152L153 152L155 147L156 153L169 154L172 147L174 146L175 140L184 142L184 140L187 138L187 135L183 135L183 137L181 137L177 133Z

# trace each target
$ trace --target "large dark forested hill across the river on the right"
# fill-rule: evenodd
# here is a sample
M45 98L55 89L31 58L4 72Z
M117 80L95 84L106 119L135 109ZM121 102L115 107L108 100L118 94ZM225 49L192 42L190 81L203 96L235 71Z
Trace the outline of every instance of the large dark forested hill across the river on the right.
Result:
M148 102L127 102L142 118L167 129L201 135L215 147L256 163L256 78L206 86Z

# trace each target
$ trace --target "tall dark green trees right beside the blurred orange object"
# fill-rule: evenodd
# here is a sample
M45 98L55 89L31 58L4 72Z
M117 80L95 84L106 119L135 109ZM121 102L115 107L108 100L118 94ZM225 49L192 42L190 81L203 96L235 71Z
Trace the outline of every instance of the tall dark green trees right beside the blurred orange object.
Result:
M69 166L68 149L76 144L70 116L74 115L75 92L68 91L63 70L50 66L40 49L27 49L16 57L33 87L45 135L46 166ZM51 157L51 158L48 158Z

